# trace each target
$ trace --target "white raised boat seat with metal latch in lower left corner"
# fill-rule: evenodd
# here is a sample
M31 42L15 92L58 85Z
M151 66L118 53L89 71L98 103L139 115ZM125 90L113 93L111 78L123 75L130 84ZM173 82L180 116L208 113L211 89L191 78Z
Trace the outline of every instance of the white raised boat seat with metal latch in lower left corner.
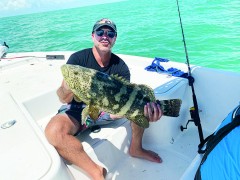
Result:
M0 93L0 99L4 105L0 108L1 179L71 179L62 159L37 123L22 111L22 105L10 93Z

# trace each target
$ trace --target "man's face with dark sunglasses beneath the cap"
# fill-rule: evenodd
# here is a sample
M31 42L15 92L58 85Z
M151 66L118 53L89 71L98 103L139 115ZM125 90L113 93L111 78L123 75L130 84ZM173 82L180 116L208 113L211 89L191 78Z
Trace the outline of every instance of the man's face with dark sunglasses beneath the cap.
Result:
M117 34L108 27L102 27L92 33L94 46L101 51L110 51L115 44Z

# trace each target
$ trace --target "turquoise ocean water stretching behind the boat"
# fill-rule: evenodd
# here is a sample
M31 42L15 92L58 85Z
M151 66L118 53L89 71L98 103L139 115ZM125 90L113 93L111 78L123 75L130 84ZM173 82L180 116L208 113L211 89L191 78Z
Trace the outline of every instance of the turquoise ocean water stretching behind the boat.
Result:
M240 72L240 1L179 0L191 64ZM186 62L176 1L127 0L0 18L9 52L91 47L96 20L118 28L114 53Z

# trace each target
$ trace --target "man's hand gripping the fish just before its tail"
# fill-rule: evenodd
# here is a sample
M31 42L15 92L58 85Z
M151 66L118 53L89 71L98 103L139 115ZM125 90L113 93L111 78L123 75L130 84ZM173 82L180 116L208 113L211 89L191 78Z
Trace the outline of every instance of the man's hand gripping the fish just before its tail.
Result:
M149 122L158 121L162 117L160 105L154 102L147 103L144 106L144 115L149 119Z

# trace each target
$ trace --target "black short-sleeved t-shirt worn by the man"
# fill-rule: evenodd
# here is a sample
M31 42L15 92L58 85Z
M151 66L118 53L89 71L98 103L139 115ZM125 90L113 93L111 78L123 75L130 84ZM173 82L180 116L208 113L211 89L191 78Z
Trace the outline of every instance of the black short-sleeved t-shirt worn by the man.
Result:
M101 67L97 63L92 48L84 49L78 52L73 53L67 64L80 65L86 68L95 69L100 72L104 72L108 75L117 74L130 81L130 71L125 62L115 54L111 54L110 63L107 67ZM72 101L71 104L78 104L76 101Z

